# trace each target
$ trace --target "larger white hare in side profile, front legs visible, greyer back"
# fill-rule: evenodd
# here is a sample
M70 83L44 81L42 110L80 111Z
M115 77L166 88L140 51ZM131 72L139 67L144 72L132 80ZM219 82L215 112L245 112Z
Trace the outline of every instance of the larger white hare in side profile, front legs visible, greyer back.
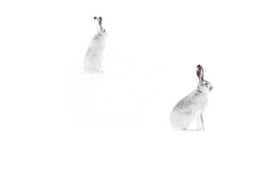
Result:
M204 130L203 112L208 105L208 93L212 91L213 86L203 80L203 67L200 65L197 66L197 77L199 78L197 88L181 99L170 114L170 123L179 130L189 130L189 125L195 118L198 126L196 130Z

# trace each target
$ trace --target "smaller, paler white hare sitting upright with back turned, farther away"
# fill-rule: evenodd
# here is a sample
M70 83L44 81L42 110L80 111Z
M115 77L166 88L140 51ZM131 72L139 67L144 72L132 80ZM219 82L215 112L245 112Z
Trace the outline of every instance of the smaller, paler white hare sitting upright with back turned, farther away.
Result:
M107 36L105 29L102 28L102 18L94 17L94 20L98 20L99 29L97 30L97 34L95 34L91 39L89 48L83 61L84 69L89 72L99 72L99 69L102 66L105 37Z

